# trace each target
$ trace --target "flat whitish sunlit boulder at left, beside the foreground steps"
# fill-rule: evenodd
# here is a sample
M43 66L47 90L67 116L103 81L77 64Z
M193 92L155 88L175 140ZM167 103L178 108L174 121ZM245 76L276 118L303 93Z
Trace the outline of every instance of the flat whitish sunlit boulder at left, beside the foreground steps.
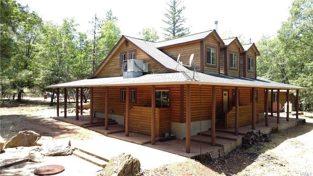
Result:
M41 153L45 156L71 155L74 148L70 145L69 139L48 140L41 146Z

